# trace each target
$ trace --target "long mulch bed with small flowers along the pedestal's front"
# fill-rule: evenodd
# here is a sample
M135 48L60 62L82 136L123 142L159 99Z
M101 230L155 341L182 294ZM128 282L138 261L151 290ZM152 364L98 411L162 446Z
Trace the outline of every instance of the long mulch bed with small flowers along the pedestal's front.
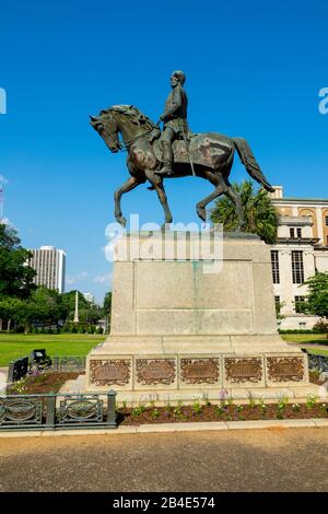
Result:
M238 410L239 409L239 410ZM201 407L200 412L195 412L192 406L185 406L176 411L175 407L148 407L141 413L133 413L133 409L118 409L118 424L139 425L144 423L175 423L195 421L250 421L250 420L277 420L277 419L328 419L328 404L316 404L307 408L305 404L300 404L300 410L293 410L292 405L288 405L280 410L277 404L266 404L266 411L260 406L255 407L243 405L243 409L236 405L219 408L216 405Z

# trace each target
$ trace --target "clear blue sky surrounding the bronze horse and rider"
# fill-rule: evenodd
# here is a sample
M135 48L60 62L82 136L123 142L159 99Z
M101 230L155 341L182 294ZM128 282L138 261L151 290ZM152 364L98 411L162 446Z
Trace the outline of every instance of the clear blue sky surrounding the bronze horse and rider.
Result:
M286 196L328 196L327 1L0 0L0 175L4 215L25 247L67 252L67 289L109 289L105 227L113 194L127 178L89 114L133 104L154 121L173 70L186 72L189 125L244 137ZM247 177L238 157L232 180ZM201 179L166 185L175 221L195 222L211 191ZM124 213L162 223L145 185L122 198Z

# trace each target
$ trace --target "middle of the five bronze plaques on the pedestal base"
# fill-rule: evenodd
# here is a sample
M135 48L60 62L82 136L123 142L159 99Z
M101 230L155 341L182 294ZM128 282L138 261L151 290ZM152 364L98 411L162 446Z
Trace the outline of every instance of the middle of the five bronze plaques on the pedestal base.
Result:
M186 384L215 384L220 376L220 359L181 359L180 373Z

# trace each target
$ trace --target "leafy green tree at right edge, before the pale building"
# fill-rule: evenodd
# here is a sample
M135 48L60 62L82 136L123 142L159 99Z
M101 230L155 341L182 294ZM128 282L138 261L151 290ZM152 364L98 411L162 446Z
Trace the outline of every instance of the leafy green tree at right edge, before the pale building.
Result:
M307 285L308 294L298 307L304 313L328 317L328 272L316 273L302 285Z

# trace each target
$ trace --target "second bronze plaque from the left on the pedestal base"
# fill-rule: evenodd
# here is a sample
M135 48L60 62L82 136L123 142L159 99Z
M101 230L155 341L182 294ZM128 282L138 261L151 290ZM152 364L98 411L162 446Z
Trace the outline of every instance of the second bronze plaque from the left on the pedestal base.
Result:
M171 385L175 381L175 367L173 359L137 359L137 379L142 385Z

